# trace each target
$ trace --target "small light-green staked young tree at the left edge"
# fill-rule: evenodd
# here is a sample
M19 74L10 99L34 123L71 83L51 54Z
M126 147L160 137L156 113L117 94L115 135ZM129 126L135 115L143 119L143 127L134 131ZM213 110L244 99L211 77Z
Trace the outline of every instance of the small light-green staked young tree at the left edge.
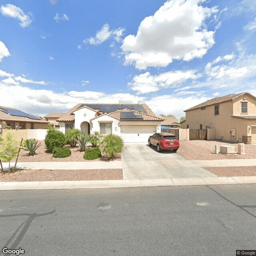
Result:
M12 138L13 135L11 131L6 133L5 138L2 138L2 135L0 135L0 159L3 162L9 162L8 172L11 170L10 161L16 157L20 148L18 140Z

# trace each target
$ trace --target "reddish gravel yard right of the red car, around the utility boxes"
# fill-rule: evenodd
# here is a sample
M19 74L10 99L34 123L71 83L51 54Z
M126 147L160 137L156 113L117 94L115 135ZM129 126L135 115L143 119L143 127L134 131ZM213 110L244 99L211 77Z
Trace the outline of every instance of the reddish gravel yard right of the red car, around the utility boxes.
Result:
M256 145L245 144L245 154L214 154L214 145L232 145L215 140L180 140L180 148L177 153L187 160L216 160L216 159L250 159L256 158Z

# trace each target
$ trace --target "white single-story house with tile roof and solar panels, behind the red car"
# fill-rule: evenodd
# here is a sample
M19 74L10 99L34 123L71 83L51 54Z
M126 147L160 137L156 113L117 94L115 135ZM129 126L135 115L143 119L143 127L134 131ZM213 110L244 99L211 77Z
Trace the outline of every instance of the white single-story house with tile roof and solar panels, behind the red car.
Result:
M86 134L116 134L124 142L147 142L161 132L161 121L146 104L77 104L57 120L60 131L77 128Z

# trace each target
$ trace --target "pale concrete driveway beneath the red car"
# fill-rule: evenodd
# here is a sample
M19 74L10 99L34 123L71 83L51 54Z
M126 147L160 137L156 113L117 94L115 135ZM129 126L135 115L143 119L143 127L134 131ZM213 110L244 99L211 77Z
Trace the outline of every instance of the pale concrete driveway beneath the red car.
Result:
M173 151L157 152L147 143L124 143L122 168L125 180L216 177Z

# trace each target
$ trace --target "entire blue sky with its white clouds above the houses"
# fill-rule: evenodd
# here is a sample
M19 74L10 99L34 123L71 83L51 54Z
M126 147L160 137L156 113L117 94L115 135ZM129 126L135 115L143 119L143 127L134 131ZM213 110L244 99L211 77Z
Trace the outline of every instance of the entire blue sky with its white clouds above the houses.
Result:
M254 0L0 1L0 105L44 116L78 103L174 114L256 96Z

